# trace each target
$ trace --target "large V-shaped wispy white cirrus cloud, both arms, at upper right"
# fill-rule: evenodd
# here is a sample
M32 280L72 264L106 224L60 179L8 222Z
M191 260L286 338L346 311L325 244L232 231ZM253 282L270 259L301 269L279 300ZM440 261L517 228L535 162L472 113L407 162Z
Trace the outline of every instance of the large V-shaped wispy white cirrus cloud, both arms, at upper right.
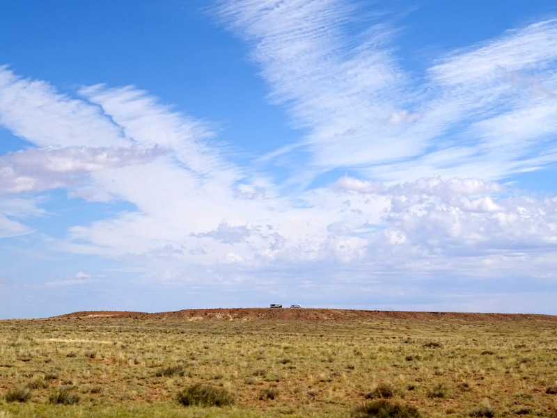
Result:
M221 7L253 45L271 98L309 130L307 170L351 168L388 182L478 172L502 179L554 161L557 21L455 51L414 81L398 63L393 25L347 33L357 8L310 0Z

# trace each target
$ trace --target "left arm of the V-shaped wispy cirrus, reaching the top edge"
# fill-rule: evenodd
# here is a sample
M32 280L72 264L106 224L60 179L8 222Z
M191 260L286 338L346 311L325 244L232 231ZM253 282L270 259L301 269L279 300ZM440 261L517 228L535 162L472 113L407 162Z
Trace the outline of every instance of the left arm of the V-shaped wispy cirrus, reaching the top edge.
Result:
M221 8L222 19L253 45L272 101L309 129L303 145L312 170L379 163L422 150L400 135L398 124L386 123L404 114L411 98L389 46L394 30L371 24L354 38L345 24L356 19L355 10L346 1L308 0L230 1Z

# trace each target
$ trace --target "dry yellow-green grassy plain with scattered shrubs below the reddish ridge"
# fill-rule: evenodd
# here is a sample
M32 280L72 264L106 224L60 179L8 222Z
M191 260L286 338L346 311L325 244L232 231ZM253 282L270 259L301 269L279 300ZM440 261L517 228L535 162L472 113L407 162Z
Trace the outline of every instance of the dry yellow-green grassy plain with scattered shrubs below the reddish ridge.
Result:
M178 402L200 387L219 406ZM372 417L356 408L377 399L556 418L556 392L557 321L542 317L0 321L0 418Z

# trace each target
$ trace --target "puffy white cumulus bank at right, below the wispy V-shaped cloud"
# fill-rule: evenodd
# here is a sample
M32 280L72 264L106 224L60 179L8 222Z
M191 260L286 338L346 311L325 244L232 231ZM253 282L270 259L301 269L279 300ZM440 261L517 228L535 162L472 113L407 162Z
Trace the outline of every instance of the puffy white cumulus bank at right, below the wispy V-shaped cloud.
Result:
M362 193L347 177L333 184L337 193ZM350 187L355 184L355 187ZM419 255L451 255L553 248L557 213L554 198L518 198L503 186L479 179L438 178L389 186L390 206L380 232L393 246L405 247L409 259ZM414 255L413 255L414 253Z

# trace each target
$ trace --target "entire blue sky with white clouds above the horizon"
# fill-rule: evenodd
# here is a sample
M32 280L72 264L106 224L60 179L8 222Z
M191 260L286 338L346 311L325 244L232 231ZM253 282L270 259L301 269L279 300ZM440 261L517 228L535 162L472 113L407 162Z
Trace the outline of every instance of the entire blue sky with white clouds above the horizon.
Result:
M3 0L0 319L557 314L554 0Z

